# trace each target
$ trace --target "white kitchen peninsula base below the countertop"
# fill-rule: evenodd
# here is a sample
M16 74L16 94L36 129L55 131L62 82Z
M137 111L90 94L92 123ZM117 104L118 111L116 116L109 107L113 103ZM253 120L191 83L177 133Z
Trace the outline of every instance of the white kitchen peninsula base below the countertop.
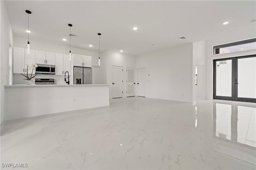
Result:
M109 106L106 84L5 86L6 120Z

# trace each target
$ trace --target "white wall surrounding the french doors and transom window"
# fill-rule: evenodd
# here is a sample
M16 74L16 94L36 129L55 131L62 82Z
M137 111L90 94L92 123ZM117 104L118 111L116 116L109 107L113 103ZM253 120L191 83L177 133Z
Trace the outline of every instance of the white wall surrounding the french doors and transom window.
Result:
M256 37L255 29L241 31L239 33L227 33L225 37L216 37L215 39L206 40L206 56L205 56L205 98L213 99L213 60L229 57L238 57L256 54L256 50L238 51L233 53L213 55L213 46L221 45L244 39Z

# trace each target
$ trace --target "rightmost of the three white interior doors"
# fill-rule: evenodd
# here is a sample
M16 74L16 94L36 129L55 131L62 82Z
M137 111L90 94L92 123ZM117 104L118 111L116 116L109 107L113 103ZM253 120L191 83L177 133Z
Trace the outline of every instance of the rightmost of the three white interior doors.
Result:
M137 96L145 97L146 96L146 69L138 68L137 69Z

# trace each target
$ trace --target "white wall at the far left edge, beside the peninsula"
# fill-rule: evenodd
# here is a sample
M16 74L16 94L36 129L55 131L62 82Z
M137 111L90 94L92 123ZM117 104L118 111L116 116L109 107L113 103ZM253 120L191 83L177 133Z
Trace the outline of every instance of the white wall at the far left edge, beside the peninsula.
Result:
M12 28L10 26L10 21L8 13L6 10L5 2L0 1L0 119L1 119L1 129L5 123L5 93L4 85L8 85L9 81L9 45L12 45Z

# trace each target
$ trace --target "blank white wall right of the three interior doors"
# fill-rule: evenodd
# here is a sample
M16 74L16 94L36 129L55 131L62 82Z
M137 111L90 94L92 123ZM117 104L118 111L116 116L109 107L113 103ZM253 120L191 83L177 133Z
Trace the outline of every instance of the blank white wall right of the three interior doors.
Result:
M192 102L192 43L140 55L146 68L146 97Z

